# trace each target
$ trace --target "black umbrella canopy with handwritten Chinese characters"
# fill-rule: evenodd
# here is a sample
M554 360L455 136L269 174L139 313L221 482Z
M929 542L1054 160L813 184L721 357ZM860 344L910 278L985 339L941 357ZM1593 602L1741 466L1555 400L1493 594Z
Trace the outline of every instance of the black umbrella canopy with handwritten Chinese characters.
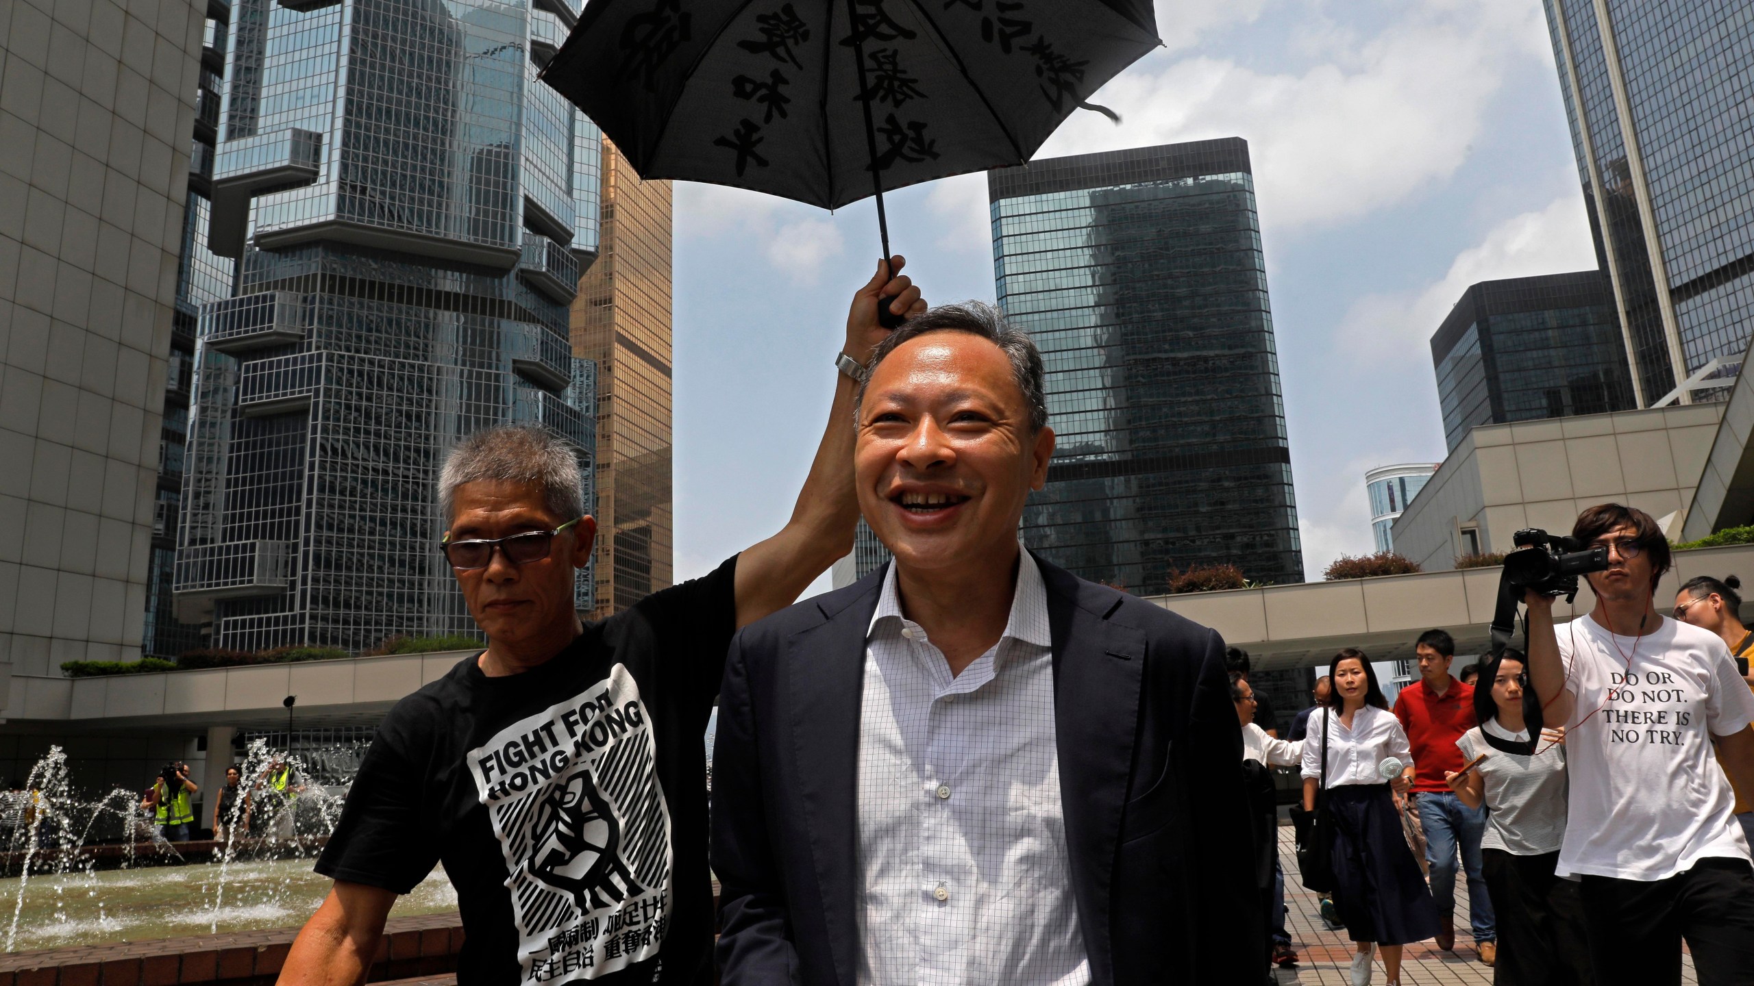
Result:
M823 209L1021 165L1161 44L1149 0L591 0L542 79L647 179Z

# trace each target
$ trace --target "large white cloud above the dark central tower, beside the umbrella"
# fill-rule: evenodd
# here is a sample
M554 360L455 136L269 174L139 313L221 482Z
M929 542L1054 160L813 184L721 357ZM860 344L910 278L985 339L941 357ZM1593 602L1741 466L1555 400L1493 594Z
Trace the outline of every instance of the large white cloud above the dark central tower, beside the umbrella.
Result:
M1538 4L1379 9L1396 19L1363 40L1319 9L1305 11L1287 28L1291 47L1324 61L1298 70L1147 56L1094 96L1123 116L1121 126L1073 114L1042 156L1240 135L1251 146L1263 221L1275 230L1403 202L1461 167L1514 63L1552 56Z

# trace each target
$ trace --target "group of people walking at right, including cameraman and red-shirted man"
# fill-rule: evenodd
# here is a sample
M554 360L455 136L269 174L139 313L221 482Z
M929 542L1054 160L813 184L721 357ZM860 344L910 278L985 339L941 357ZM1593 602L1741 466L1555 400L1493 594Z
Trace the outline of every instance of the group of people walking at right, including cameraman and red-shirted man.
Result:
M1331 691L1300 714L1303 809L1324 798L1331 818L1308 837L1328 840L1331 874L1305 875L1331 884L1358 942L1354 986L1372 981L1373 946L1391 986L1400 946L1454 949L1458 874L1498 986L1675 986L1682 944L1703 986L1754 982L1740 582L1691 579L1668 618L1654 589L1670 549L1649 514L1593 507L1573 537L1608 558L1587 575L1589 614L1556 630L1552 597L1529 591L1528 653L1505 647L1461 677L1451 635L1424 633L1393 716L1365 654L1340 651ZM1415 825L1396 825L1403 790Z

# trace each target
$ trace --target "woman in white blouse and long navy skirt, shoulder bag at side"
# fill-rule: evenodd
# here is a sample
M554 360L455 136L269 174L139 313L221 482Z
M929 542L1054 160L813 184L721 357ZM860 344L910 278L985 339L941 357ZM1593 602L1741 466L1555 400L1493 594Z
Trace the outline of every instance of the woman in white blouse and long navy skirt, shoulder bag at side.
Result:
M1347 647L1328 665L1333 693L1303 739L1303 809L1321 795L1333 818L1333 905L1358 944L1352 986L1366 986L1382 946L1389 986L1401 981L1401 946L1437 935L1437 905L1407 849L1394 793L1412 786L1412 751L1377 684L1370 658ZM1393 779L1382 774L1394 758ZM1389 765L1393 767L1393 765Z

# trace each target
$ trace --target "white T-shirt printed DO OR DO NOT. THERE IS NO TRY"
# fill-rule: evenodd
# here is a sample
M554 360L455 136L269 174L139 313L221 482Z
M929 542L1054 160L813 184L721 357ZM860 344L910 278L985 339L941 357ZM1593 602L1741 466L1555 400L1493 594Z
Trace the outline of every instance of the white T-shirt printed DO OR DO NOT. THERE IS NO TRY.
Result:
M1705 858L1749 858L1707 733L1754 721L1754 693L1715 633L1658 619L1643 637L1610 635L1593 616L1556 626L1577 700L1559 875L1659 881Z

